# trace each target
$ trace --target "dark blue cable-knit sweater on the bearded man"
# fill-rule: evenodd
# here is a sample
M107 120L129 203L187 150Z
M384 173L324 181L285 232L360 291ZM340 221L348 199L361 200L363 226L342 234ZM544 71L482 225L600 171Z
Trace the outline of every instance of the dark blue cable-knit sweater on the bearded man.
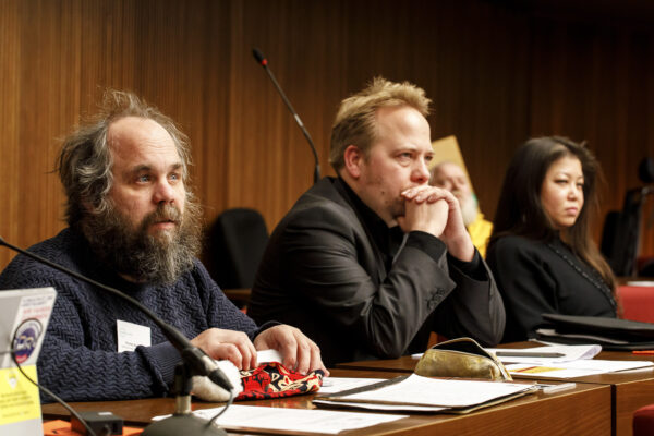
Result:
M203 265L172 286L135 284L104 268L81 233L64 229L29 251L138 300L187 338L218 327L254 339L255 323L220 291ZM178 351L125 301L24 255L0 275L0 289L53 287L57 300L38 359L39 383L68 401L158 397L172 383ZM117 352L117 319L148 326L152 347ZM51 401L41 397L43 401Z

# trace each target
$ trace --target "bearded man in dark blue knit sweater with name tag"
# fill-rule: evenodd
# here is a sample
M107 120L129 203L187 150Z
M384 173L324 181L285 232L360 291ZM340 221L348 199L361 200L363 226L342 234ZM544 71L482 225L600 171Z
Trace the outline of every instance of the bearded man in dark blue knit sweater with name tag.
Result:
M324 370L314 342L287 325L257 326L197 261L189 161L172 120L133 94L106 93L58 159L69 228L29 250L130 294L214 359L249 370L256 350L277 349L298 372ZM40 287L58 292L37 364L43 385L68 401L168 393L180 356L149 318L24 255L0 276L0 289Z

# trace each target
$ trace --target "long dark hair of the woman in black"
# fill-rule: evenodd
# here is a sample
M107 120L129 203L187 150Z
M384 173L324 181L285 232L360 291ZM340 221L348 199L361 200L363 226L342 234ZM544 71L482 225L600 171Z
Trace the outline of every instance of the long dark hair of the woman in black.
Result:
M591 220L600 210L597 183L602 179L602 170L583 144L566 137L532 138L516 152L501 186L488 247L498 238L509 234L536 241L556 237L557 230L541 202L541 189L552 164L566 156L576 157L581 162L584 203L574 225L561 230L560 237L577 256L600 271L615 290L615 276L591 235Z

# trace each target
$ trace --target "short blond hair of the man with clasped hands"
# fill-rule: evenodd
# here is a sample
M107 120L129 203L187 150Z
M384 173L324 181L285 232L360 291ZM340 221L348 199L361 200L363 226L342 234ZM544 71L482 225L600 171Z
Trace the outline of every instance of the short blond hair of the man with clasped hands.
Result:
M329 164L339 172L344 167L344 153L355 145L367 156L376 140L377 109L389 106L410 106L423 117L429 114L431 99L424 89L409 82L395 83L375 77L363 90L341 101L331 128Z

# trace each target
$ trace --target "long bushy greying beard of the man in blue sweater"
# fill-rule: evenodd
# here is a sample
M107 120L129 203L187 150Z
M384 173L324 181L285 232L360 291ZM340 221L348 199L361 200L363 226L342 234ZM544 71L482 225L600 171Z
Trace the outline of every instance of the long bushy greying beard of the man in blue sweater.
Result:
M173 221L173 230L148 233L155 222ZM110 205L106 213L87 216L82 231L93 251L116 272L153 284L169 284L193 268L201 247L201 208L191 195L182 214L160 204L138 226Z

